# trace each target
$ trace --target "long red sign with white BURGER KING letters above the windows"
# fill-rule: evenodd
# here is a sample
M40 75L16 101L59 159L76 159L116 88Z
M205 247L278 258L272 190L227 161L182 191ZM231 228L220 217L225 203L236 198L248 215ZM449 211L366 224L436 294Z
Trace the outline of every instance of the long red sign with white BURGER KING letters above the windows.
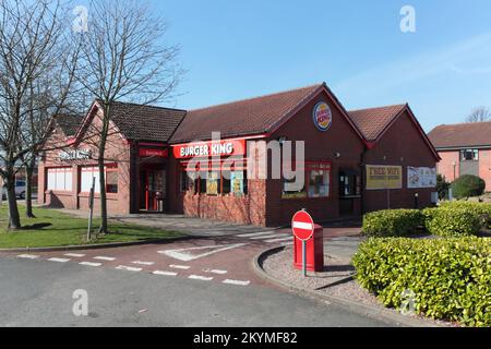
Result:
M246 155L246 140L188 143L176 145L172 149L177 159Z

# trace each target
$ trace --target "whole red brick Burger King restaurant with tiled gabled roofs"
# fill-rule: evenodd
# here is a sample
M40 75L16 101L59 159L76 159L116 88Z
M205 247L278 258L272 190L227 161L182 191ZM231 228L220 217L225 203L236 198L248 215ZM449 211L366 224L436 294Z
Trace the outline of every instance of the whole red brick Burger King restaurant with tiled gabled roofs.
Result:
M407 105L348 112L319 84L191 111L130 104L111 110L111 213L184 213L278 226L300 208L331 220L423 207L434 196L439 156ZM98 176L97 132L91 130L97 130L100 112L96 101L85 117L53 122L51 142L71 147L47 146L39 164L44 203L87 207L87 188ZM260 146L279 144L285 155L290 143L294 154L296 145L304 146L304 164L296 168L304 184L295 191L286 176L272 176L276 151ZM268 176L251 174L263 161Z

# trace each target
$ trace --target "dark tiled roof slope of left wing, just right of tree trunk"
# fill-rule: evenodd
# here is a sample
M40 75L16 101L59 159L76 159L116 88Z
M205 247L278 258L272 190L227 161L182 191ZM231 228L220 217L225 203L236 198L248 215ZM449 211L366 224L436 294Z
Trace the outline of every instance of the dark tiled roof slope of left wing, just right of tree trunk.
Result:
M133 141L168 142L185 116L185 110L130 103L112 103L110 120Z

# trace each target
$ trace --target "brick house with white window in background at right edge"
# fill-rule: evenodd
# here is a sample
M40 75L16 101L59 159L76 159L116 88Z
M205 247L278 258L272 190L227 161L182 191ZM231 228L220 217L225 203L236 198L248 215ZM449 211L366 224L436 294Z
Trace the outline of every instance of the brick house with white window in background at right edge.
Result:
M440 174L450 182L463 174L478 176L491 191L491 122L442 124L428 136L442 158Z

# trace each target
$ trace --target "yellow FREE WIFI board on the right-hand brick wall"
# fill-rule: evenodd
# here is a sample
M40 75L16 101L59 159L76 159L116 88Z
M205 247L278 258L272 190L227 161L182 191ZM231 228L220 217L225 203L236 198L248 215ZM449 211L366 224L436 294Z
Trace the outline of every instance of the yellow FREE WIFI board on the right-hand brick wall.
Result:
M403 189L403 167L367 165L367 190Z

